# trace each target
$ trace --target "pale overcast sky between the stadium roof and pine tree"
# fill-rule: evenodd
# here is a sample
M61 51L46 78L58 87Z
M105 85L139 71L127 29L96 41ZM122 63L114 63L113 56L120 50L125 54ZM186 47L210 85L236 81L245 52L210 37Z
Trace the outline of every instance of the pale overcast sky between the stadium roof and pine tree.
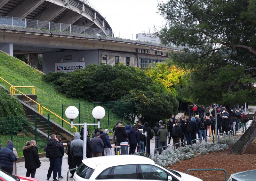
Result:
M165 20L157 13L157 0L88 0L112 28L115 37L135 40L137 33L154 33Z

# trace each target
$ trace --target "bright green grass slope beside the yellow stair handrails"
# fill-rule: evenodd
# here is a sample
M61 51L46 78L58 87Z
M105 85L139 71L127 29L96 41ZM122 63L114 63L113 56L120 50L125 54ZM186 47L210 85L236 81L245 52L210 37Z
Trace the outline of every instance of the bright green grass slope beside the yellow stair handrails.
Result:
M88 103L88 101L84 99L66 98L63 94L58 93L52 84L44 82L42 78L43 73L3 52L0 52L0 76L14 86L35 86L37 102L60 117L62 113L61 104L72 105ZM5 83L2 79L0 79L0 84L10 89L10 85ZM31 88L19 88L18 90L25 94L32 93ZM38 108L36 108L36 110L38 111ZM44 115L48 115L48 112L45 110ZM55 116L50 115L50 119L61 125L60 119L56 119ZM64 127L75 132L75 129L71 130L67 123L64 123ZM79 131L79 129L77 131Z

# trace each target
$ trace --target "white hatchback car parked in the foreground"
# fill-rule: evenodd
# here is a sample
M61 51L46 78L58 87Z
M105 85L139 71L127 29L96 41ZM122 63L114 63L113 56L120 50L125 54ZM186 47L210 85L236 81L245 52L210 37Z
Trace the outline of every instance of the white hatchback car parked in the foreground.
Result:
M84 159L73 181L118 180L202 181L191 175L167 169L153 160L137 155L100 156Z

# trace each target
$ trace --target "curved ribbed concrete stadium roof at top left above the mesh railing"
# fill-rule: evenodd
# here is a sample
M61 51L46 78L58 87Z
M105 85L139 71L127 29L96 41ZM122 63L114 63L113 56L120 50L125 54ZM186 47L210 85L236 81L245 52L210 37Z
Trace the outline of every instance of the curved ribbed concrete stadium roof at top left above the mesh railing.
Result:
M112 30L87 0L1 0L0 15Z

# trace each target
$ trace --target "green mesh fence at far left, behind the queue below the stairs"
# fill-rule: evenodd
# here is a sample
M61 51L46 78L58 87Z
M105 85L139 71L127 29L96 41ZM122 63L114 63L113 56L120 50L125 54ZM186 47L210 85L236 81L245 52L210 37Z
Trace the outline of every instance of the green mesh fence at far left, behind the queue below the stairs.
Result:
M38 152L44 152L43 149L50 133L48 119L39 115L3 117L0 118L0 125L0 144L2 144L2 148L6 146L8 140L12 140L19 156L23 156L23 147L26 146L26 142L35 139Z

